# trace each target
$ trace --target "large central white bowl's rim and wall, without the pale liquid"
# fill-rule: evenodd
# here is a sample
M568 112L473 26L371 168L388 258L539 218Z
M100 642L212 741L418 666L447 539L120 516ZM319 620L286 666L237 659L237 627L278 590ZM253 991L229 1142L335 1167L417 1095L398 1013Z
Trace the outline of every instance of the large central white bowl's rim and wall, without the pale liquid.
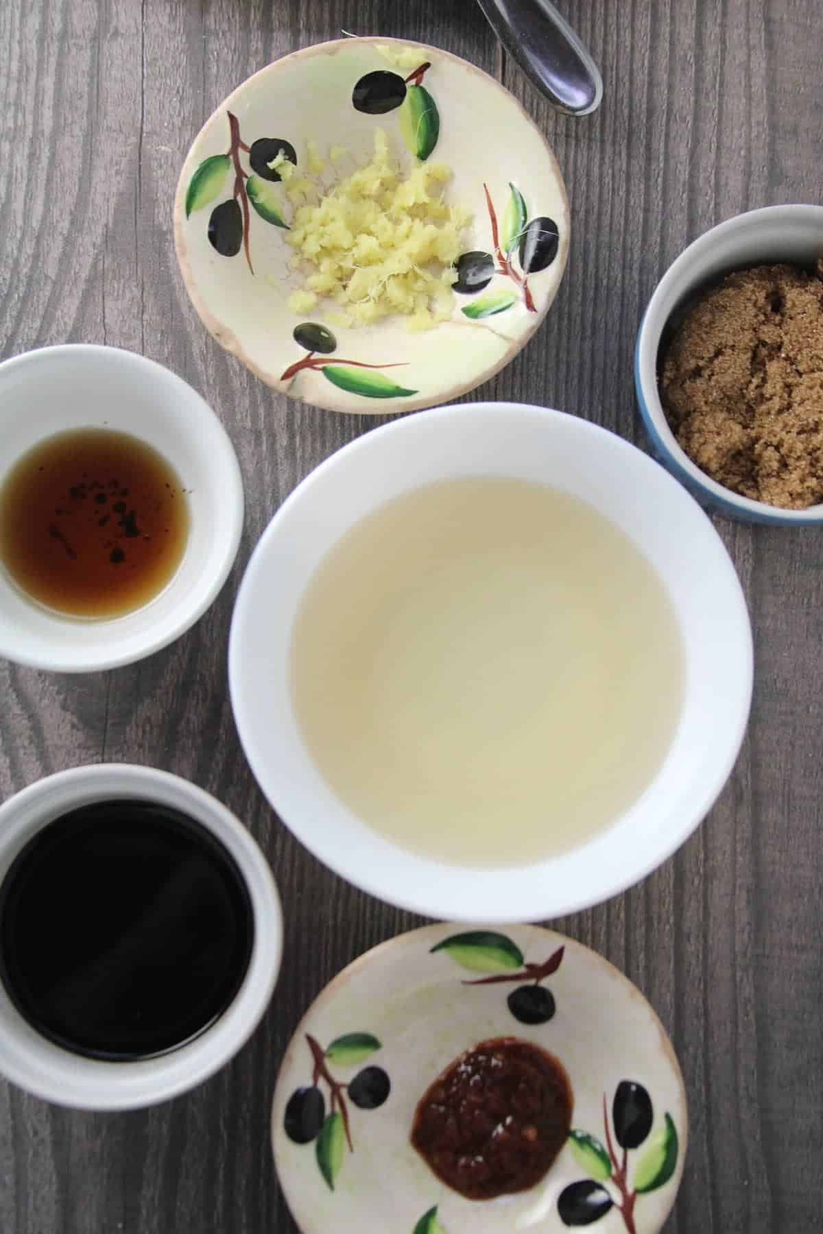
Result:
M640 798L584 847L502 870L428 860L364 826L312 763L290 692L295 613L332 544L396 494L460 475L542 481L606 515L664 580L685 653L680 722ZM751 676L740 585L698 505L663 468L612 433L561 412L513 404L410 416L322 463L263 534L241 585L230 640L241 740L286 826L349 882L453 921L558 917L606 900L658 866L706 816L732 770L749 714Z

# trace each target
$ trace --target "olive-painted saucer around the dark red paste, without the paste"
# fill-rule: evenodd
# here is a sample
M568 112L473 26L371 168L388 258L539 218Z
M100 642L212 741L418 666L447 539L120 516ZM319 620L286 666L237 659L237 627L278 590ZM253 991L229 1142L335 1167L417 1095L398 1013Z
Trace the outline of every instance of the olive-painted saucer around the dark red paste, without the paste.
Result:
M508 997L534 988L536 966L554 970L537 981L554 1014L526 1024ZM506 980L469 983L486 976ZM463 1051L500 1037L539 1045L563 1064L571 1134L529 1191L470 1201L436 1177L410 1132L432 1081ZM341 1086L378 1067L383 1077L365 1079L384 1099L360 1108L353 1096L364 1080ZM313 1102L304 1128L313 1132L313 1113L320 1133L302 1144L284 1128L300 1088L322 1093L322 1109L316 1092L290 1107ZM584 1224L598 1234L656 1234L682 1175L686 1097L660 1021L602 956L537 926L500 933L438 924L374 948L318 996L280 1067L271 1139L302 1234L559 1234Z

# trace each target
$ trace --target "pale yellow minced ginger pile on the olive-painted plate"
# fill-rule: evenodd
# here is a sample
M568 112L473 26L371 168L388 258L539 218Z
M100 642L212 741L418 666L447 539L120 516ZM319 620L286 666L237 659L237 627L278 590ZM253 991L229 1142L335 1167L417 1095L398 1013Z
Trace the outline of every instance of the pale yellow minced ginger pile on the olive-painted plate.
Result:
M329 151L332 163L344 155L339 147ZM444 163L420 163L403 174L378 128L371 160L327 191L317 179L326 164L311 142L307 174L284 154L271 167L286 196L305 202L285 234L295 249L291 265L305 274L304 289L289 296L295 313L308 313L328 297L338 311L326 316L344 326L402 313L408 329L421 331L452 316L454 263L471 215L443 201L452 176ZM316 204L305 200L315 194Z

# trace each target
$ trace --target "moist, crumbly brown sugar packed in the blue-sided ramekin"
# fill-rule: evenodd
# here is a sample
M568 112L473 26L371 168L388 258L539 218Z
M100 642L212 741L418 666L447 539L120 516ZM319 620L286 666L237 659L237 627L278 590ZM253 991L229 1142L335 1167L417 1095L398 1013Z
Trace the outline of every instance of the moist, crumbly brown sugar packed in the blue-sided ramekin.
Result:
M823 262L727 275L676 329L660 395L718 484L785 510L823 502Z

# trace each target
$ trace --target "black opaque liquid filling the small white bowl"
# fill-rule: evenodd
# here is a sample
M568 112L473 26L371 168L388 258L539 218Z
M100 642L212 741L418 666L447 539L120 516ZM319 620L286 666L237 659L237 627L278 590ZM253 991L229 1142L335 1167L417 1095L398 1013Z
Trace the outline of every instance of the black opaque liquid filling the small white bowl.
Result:
M252 954L234 860L199 823L146 801L63 814L0 887L0 975L20 1013L77 1054L163 1054L209 1028Z

